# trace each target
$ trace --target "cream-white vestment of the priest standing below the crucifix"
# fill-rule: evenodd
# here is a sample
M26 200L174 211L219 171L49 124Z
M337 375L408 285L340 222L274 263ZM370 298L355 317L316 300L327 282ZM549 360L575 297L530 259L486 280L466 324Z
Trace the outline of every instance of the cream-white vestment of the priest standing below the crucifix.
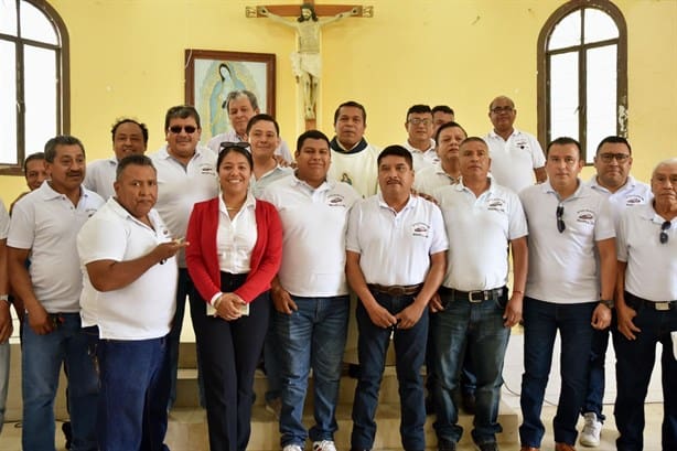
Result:
M341 143L336 140L338 146ZM332 149L332 163L327 179L345 182L353 186L362 197L376 194L378 187L378 154L380 150L369 143L355 153L336 152Z

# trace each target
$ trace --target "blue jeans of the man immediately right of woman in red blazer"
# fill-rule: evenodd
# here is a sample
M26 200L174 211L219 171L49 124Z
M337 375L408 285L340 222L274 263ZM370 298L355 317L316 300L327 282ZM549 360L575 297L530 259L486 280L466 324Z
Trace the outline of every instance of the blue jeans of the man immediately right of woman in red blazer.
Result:
M275 334L282 375L282 447L334 440L341 362L348 325L350 298L292 297L299 308L291 314L273 312ZM305 432L303 402L313 371L315 425Z

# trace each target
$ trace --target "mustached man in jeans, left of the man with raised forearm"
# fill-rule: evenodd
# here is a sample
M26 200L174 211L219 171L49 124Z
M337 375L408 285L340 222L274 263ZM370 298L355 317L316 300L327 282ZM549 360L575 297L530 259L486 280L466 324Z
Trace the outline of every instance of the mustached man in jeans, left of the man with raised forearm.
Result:
M28 312L22 337L24 450L54 449L54 397L67 368L73 447L96 450L98 380L80 326L83 275L75 240L104 204L83 186L85 148L75 137L45 144L50 180L14 205L8 236L11 283ZM26 268L26 258L31 266Z

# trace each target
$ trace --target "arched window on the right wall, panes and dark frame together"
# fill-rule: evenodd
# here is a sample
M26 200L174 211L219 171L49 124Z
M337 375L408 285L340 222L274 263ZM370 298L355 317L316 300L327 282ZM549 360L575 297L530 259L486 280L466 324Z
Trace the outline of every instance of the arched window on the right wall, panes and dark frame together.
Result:
M606 136L627 133L627 33L606 0L572 0L538 36L538 138L581 142L585 163Z

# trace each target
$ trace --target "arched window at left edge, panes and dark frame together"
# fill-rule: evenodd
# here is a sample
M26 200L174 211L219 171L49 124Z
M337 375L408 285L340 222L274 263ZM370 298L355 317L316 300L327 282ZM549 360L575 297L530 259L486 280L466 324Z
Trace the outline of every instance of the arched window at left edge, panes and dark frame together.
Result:
M0 1L0 173L19 174L69 128L68 33L46 1Z

